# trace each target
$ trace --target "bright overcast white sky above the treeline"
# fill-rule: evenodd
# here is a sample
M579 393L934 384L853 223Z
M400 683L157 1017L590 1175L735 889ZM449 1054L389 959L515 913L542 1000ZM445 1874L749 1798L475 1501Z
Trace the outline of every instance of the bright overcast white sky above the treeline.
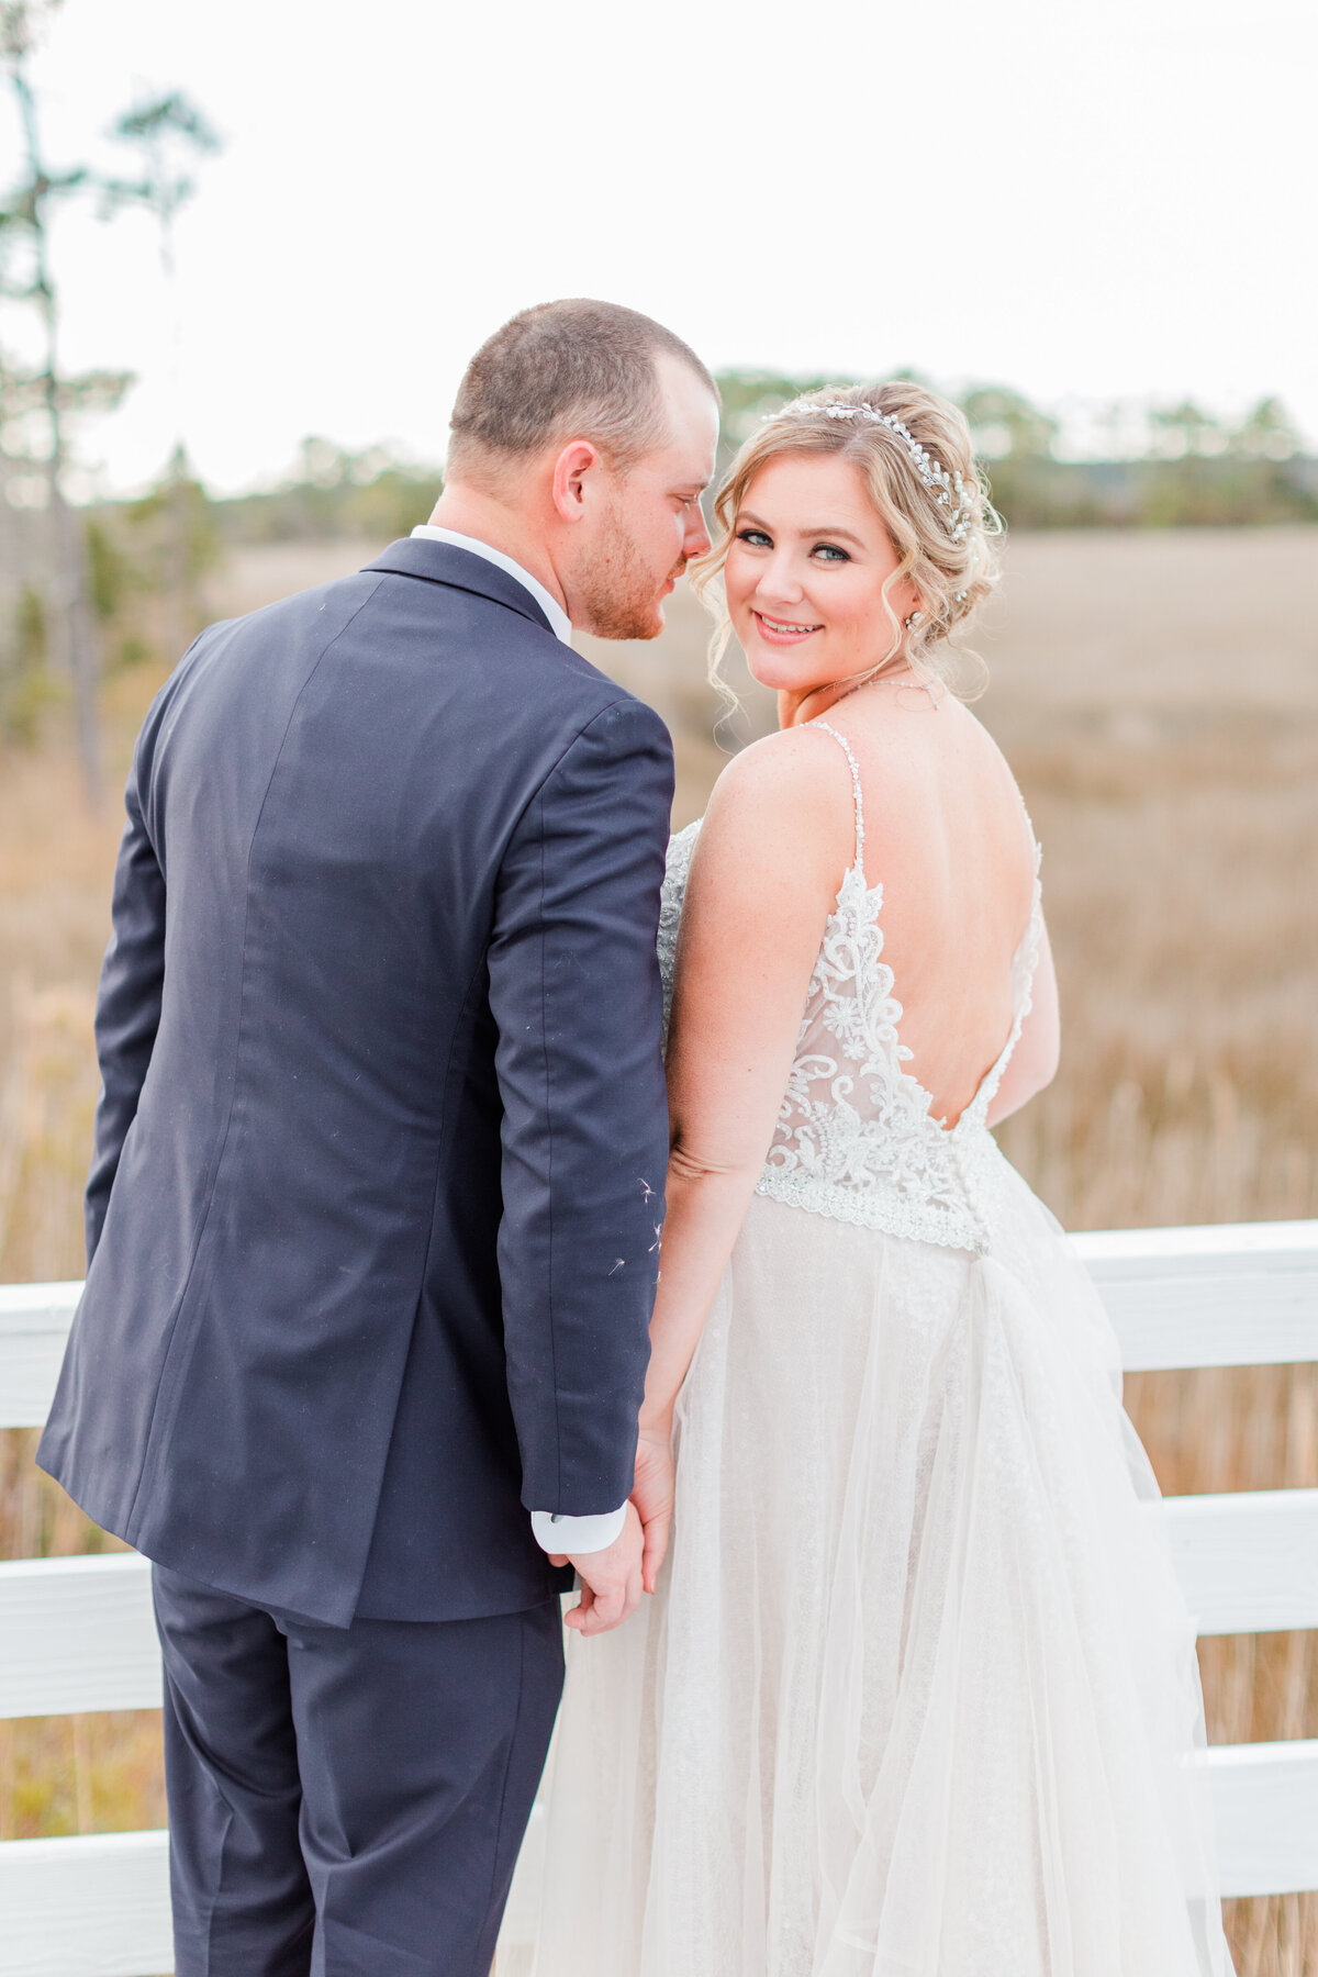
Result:
M180 221L221 490L306 433L439 459L466 356L553 295L715 368L1277 391L1318 435L1314 0L65 0L38 79L61 164L166 87L223 132ZM170 445L152 229L67 215L57 269L65 360L140 376L85 437L136 484Z

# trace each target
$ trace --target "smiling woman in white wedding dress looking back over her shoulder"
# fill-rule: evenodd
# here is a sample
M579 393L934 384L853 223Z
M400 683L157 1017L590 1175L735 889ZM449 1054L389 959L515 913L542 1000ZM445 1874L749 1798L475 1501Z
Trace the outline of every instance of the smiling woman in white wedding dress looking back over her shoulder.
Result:
M990 1137L1057 994L1020 793L947 684L994 583L964 419L802 397L717 522L698 581L781 733L670 850L654 1597L569 1641L535 1977L1221 1977L1156 1485Z

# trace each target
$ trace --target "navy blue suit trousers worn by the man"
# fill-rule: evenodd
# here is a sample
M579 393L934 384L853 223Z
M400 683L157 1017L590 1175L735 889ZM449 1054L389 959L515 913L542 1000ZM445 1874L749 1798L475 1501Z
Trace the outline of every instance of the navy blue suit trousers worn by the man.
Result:
M154 1570L176 1977L488 1977L559 1603L322 1627Z

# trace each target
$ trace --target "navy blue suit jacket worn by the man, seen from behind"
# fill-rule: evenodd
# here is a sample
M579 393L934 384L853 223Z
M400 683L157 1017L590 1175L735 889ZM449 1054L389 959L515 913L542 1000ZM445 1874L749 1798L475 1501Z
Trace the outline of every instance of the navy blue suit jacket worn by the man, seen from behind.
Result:
M126 791L87 1289L40 1461L346 1625L563 1584L632 1481L668 1151L660 718L395 542L192 646Z

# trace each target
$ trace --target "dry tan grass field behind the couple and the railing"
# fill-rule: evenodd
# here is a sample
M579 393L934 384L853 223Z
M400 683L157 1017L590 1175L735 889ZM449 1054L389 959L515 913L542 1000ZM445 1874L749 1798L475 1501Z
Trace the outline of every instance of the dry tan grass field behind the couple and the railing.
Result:
M215 609L370 546L245 552ZM654 646L593 646L680 741L678 822L721 753L690 597ZM1010 544L980 714L1043 840L1063 988L1057 1083L1004 1145L1071 1228L1318 1214L1318 530ZM156 686L109 692L115 775ZM771 720L751 698L745 726ZM91 1008L117 818L51 735L0 757L0 1281L81 1273ZM1144 1374L1128 1406L1168 1491L1318 1485L1314 1368ZM103 1544L0 1437L0 1556ZM1312 1635L1201 1649L1213 1740L1318 1736ZM150 1716L0 1726L0 1837L162 1819ZM1231 1904L1245 1977L1318 1977L1318 1896Z

